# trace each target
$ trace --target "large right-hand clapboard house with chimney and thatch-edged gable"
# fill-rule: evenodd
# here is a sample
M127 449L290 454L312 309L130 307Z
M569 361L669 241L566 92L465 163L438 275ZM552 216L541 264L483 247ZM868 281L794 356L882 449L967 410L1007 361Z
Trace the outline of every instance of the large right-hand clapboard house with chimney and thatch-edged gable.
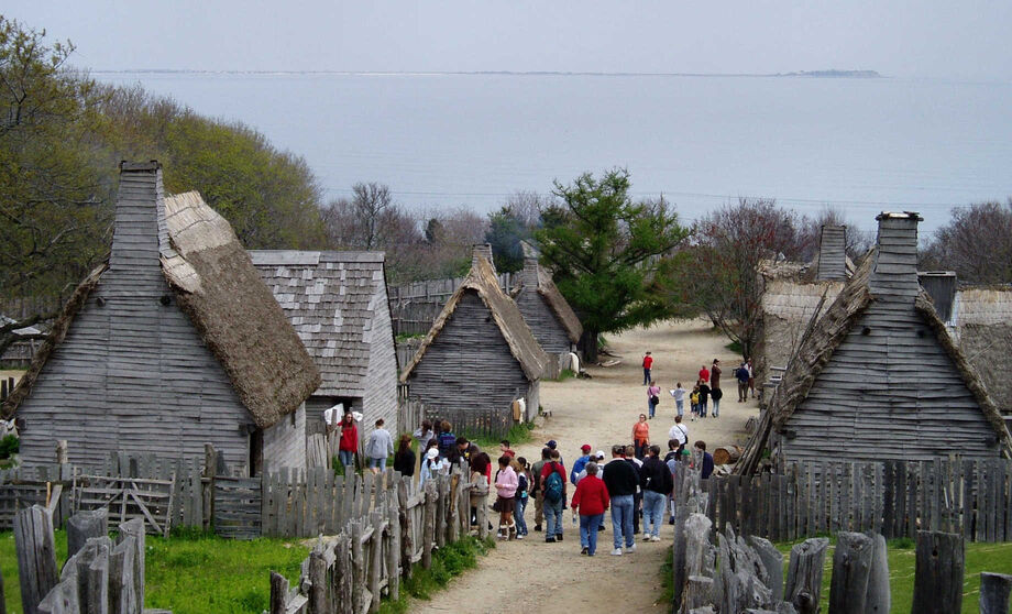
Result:
M921 218L878 220L877 248L802 340L760 437L779 462L997 458L1001 416L917 283Z

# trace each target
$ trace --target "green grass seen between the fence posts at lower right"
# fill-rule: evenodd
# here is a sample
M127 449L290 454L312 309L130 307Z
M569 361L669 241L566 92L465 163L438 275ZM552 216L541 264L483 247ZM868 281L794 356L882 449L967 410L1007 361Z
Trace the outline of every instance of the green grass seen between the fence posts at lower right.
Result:
M833 572L833 549L836 539L829 542L826 555L826 566L823 571L822 610L829 606L829 579ZM787 563L791 552L791 544L777 544L777 548L784 556L784 580L787 580ZM914 597L914 542L910 539L894 539L889 542L889 585L892 592L892 607L890 612L908 614ZM972 614L977 612L977 600L980 597L980 572L996 571L1009 573L1012 571L1012 544L967 544L966 546L966 574L963 581L963 612Z

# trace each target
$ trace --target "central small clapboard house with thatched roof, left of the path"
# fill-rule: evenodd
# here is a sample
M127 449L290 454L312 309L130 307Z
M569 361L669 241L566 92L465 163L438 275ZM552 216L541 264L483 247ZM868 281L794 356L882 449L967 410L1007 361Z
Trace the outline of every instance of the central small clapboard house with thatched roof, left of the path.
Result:
M471 272L436 318L400 381L408 384L408 398L437 413L507 413L522 398L521 418L529 420L538 412L549 359L482 251L475 250Z

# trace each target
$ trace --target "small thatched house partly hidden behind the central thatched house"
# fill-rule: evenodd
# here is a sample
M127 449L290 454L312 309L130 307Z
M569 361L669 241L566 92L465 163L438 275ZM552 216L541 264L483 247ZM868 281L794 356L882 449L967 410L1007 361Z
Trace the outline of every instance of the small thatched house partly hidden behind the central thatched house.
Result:
M552 282L551 274L538 264L538 254L524 243L524 270L512 293L520 314L541 349L548 353L550 371L558 374L562 357L576 351L583 335L580 318Z

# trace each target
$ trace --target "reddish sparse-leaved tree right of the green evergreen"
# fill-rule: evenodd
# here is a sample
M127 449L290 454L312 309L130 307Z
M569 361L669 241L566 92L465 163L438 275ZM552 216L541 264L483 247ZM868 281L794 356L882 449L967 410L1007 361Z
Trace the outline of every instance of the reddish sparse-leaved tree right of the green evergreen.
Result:
M701 220L696 242L672 276L669 296L695 306L750 357L759 338L759 262L800 257L793 212L774 200L741 198Z

